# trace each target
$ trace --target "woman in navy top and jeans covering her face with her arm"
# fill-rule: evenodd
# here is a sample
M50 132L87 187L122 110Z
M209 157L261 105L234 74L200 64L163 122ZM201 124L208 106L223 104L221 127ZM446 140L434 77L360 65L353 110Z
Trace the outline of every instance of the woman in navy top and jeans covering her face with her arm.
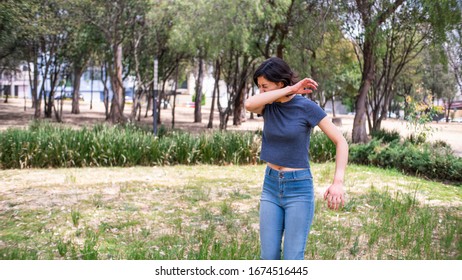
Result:
M348 144L326 113L300 94L311 93L317 83L296 76L282 59L273 57L255 71L260 94L246 100L246 109L263 115L260 158L266 161L260 202L262 259L303 259L314 215L313 178L309 165L310 132L316 125L336 145L332 184L324 193L331 209L344 205L343 178Z

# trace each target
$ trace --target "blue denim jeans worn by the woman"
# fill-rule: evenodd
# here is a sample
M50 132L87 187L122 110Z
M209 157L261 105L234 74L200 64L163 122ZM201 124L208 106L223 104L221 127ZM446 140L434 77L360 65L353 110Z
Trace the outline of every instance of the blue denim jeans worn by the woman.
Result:
M310 169L278 171L266 167L260 200L261 259L302 260L314 216Z

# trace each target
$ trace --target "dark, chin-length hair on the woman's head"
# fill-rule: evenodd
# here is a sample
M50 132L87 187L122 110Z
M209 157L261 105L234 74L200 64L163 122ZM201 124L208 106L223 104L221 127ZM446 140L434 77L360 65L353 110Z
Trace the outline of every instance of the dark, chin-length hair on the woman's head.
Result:
M265 60L253 74L253 81L258 86L258 77L264 77L270 82L282 82L284 87L297 82L297 75L289 65L279 57L271 57Z

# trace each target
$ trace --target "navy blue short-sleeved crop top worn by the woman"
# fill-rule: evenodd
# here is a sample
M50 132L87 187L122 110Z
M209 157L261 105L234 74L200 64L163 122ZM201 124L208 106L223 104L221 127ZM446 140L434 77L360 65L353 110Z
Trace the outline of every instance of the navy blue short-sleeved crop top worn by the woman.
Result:
M324 117L318 104L300 95L288 102L266 104L260 159L284 167L309 168L310 132Z

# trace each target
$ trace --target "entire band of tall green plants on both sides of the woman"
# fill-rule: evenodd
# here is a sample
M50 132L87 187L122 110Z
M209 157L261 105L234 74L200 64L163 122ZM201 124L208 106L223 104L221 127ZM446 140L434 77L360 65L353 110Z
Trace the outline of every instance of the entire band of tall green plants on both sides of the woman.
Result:
M462 182L462 158L444 142L414 143L399 133L379 131L367 144L351 144L351 163L395 168L428 179ZM87 166L260 163L259 132L168 131L159 136L127 124L96 125L80 130L33 123L28 129L0 133L0 169ZM322 132L311 136L310 160L335 159L335 145Z

